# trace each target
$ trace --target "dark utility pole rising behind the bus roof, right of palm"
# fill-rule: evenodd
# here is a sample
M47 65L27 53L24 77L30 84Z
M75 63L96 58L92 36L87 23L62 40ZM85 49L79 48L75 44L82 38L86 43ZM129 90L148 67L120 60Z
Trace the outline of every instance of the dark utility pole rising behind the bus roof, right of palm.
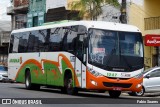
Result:
M127 24L126 0L122 0L120 22Z

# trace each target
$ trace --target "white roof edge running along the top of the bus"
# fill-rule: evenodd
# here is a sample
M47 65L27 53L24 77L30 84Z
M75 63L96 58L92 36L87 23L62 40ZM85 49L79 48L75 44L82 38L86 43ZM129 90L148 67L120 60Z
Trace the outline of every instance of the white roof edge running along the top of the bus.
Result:
M55 27L74 26L74 25L83 25L83 26L86 26L87 29L97 28L97 29L106 29L106 30L115 30L115 31L140 32L140 30L136 26L128 25L128 24L105 22L105 21L68 21L64 23L53 23L53 24L43 25L38 27L13 30L12 33L25 32L25 31L31 31L31 30L42 30L42 29L49 29L49 28L55 28Z

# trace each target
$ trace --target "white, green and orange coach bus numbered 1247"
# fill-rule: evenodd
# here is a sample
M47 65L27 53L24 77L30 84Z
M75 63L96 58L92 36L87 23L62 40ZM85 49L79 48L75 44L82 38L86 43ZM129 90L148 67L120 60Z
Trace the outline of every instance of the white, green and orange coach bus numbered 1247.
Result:
M62 92L139 92L143 39L132 25L70 21L11 32L8 77L26 89L54 86Z

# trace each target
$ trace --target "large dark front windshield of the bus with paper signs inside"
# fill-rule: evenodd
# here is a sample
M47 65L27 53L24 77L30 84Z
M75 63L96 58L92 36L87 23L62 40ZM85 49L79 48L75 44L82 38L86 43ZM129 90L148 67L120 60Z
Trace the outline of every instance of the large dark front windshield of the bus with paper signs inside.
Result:
M131 72L143 68L141 33L90 29L88 61L111 71Z

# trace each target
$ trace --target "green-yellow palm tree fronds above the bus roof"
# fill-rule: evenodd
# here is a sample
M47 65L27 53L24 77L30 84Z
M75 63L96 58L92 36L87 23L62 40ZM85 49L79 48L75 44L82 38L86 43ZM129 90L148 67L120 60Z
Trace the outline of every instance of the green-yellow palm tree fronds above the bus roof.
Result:
M70 3L71 10L79 10L79 16L89 17L90 20L97 20L102 14L104 5L119 6L118 0L79 0Z

